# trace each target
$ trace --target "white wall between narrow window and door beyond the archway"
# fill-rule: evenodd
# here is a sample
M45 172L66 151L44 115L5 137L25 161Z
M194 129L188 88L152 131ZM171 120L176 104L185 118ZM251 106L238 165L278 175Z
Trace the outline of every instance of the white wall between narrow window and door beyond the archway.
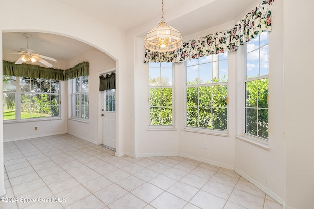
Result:
M88 122L81 122L76 120L67 120L67 132L71 135L78 136L95 144L98 144L99 130L98 130L98 119L100 117L101 106L99 106L98 95L99 95L99 77L98 72L102 72L106 69L116 67L116 61L110 58L103 52L97 49L92 49L88 52L80 54L79 56L69 60L69 66L81 62L89 63L89 76L88 76L88 87L89 87L89 118ZM66 88L65 94L68 95L68 88ZM70 107L70 97L68 98L68 105ZM71 117L71 112L67 115L67 118ZM101 132L100 132L101 133Z

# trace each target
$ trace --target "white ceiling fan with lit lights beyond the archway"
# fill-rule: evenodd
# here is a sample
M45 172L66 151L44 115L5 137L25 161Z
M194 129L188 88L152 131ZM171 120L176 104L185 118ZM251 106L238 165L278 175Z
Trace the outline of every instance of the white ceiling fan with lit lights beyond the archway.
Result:
M27 39L27 48L21 48L21 51L13 50L15 52L18 52L18 53L14 53L14 54L22 54L21 57L15 62L15 64L22 64L23 62L27 62L27 61L31 61L31 62L34 63L34 62L38 61L38 62L42 63L43 65L45 65L47 67L52 67L53 65L51 63L47 62L44 59L48 59L48 60L51 60L51 61L54 61L54 62L56 62L57 60L55 60L54 58L48 57L48 56L43 56L43 55L40 55L40 54L36 54L34 50L29 49L28 48L28 39L32 35L28 34L28 33L23 33L23 35Z

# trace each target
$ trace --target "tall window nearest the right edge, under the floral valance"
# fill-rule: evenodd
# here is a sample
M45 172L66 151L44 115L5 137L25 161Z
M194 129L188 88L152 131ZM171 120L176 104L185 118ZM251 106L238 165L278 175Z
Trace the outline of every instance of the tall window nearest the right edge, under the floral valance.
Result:
M245 130L268 140L268 32L246 43Z

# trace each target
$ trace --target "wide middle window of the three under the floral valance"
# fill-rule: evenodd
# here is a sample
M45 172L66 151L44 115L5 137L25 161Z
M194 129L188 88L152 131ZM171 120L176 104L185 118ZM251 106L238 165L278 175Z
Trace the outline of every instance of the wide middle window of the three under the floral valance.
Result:
M227 131L228 52L186 62L186 127Z

